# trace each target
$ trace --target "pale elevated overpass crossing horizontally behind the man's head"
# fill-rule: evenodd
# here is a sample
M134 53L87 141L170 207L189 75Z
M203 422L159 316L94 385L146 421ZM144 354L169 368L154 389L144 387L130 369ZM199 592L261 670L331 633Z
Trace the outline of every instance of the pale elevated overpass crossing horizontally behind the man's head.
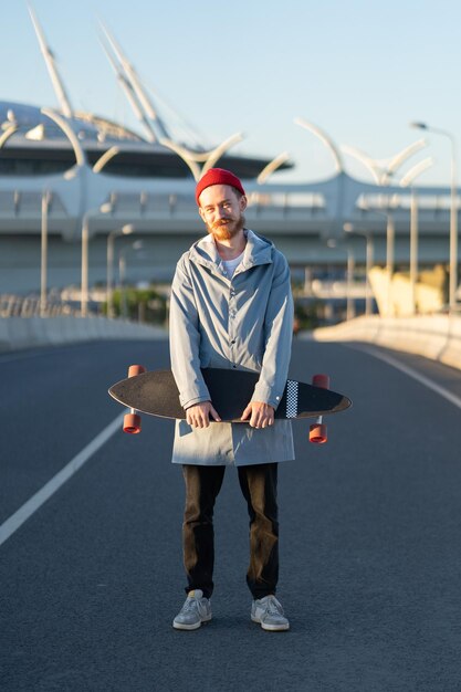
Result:
M374 261L385 264L389 222L395 228L396 266L409 264L408 190L364 184L345 172L315 184L259 185L252 179L244 186L250 199L247 226L272 239L292 268L314 266L324 272L344 265L348 249L356 263L364 265L363 234L373 240ZM65 177L0 177L0 293L40 290L45 191L50 287L80 284L83 223L90 230L90 284L106 281L108 233L127 223L134 226L134 233L117 240L118 249L135 239L144 242L142 255L134 254L127 262L128 279L168 281L180 253L203 233L193 188L191 178L119 180L87 167L71 169ZM450 190L416 187L413 193L419 263L448 263ZM345 224L353 232L346 233ZM335 247L327 245L328 239L336 241Z

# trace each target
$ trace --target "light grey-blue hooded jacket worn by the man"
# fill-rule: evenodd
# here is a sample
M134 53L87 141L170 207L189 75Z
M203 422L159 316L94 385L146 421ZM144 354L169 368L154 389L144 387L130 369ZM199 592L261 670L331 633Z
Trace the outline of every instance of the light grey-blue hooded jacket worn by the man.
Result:
M229 280L211 235L179 260L171 287L171 369L184 408L210 400L200 368L261 373L252 400L275 409L286 384L293 334L290 271L273 243L245 231L242 262ZM243 409L242 409L243 411ZM219 411L218 411L219 412ZM289 420L263 429L176 421L174 463L258 464L294 459Z

